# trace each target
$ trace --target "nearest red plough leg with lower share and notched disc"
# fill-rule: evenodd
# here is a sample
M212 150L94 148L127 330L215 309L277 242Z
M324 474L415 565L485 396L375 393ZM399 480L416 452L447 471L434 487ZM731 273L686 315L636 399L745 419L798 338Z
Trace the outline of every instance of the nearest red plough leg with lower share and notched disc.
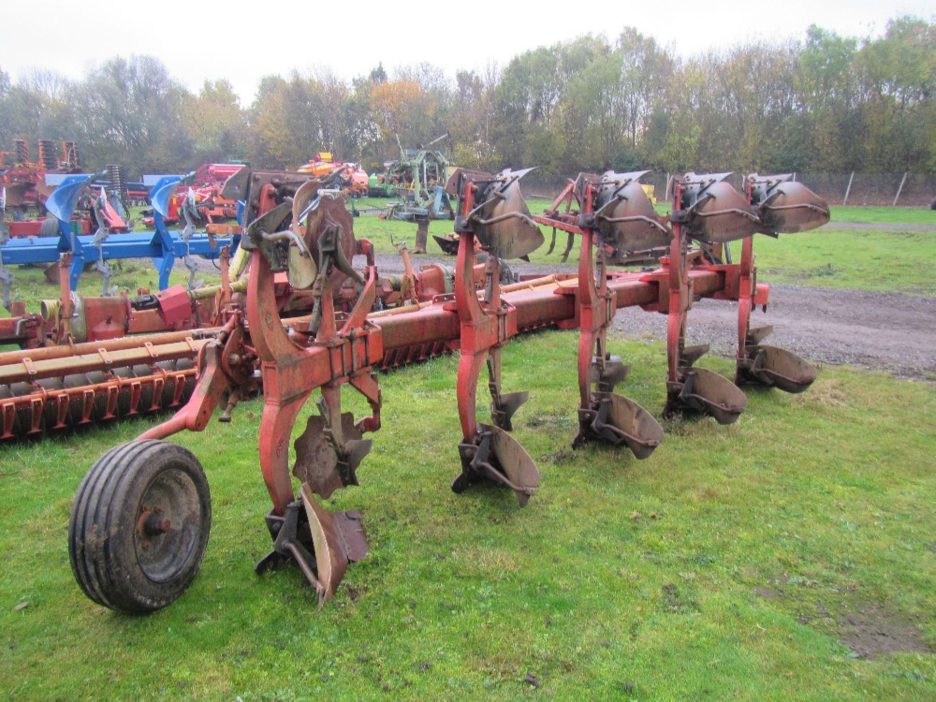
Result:
M358 512L330 513L315 495L328 497L334 490L358 484L358 464L371 448L360 434L380 426L380 390L371 365L383 349L379 329L366 320L375 297L376 269L369 267L358 303L342 329L337 329L328 276L333 266L346 268L344 259L336 256L341 236L341 227L329 226L318 241L317 271L324 277L314 285L318 315L315 341L309 347L294 343L283 329L271 266L259 251L254 254L248 293L252 338L264 372L260 465L273 503L267 516L273 548L257 563L256 571L296 561L320 606L334 594L347 564L367 553L367 542ZM373 411L358 424L341 411L341 387L346 382L367 398ZM301 481L297 501L288 469L288 442L300 409L315 388L321 388L319 415L309 418L295 445L293 474Z

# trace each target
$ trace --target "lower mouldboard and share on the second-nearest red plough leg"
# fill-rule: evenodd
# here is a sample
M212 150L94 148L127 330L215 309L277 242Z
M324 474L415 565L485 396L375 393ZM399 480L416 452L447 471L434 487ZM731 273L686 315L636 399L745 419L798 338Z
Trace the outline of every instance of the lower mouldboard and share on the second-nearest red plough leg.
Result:
M520 506L526 505L539 486L539 470L530 454L507 431L490 424L478 424L473 443L459 444L461 474L452 490L463 492L487 479L517 493Z

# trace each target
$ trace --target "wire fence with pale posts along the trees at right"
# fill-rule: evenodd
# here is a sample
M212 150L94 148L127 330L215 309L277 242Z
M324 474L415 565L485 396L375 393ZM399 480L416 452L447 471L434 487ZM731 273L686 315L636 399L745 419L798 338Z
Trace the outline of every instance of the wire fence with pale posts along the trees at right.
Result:
M652 183L657 199L665 199L669 174L653 171L642 179ZM806 183L830 205L887 205L898 207L929 207L936 199L936 173L795 173L797 181ZM741 174L731 177L740 187ZM535 171L523 181L528 196L556 197L565 179L539 176Z

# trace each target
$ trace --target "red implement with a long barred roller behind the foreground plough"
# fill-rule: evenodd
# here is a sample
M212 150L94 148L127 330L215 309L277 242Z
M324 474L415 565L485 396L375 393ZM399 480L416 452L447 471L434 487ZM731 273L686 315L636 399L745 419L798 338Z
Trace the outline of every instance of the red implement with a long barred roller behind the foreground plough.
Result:
M369 256L373 263L369 242L358 241L356 245L359 253ZM230 283L229 271L240 272L241 262L249 260L245 255L247 251L241 249L228 265L227 249L222 250L220 285L192 291L176 285L154 295L143 292L132 298L126 295L86 298L70 292L70 258L63 255L59 300L44 300L41 314L21 311L19 317L9 320L9 329L20 335L10 334L4 341L19 342L23 350L0 354L3 378L0 407L6 417L18 419L12 424L7 419L6 431L0 434L0 439L24 436L35 439L46 431L178 406L179 398L168 394L156 395L159 402L149 402L146 388L164 383L166 372L173 373L173 377L184 375L186 382L194 379L201 346L218 336L230 314L242 309L242 293L247 290L249 276L241 275ZM377 314L417 309L418 305L426 305L452 289L454 271L432 264L414 272L405 248L402 256L405 274L377 280L380 304L375 307L384 308L383 313ZM483 271L483 265L475 266L475 285L483 280ZM287 271L275 275L274 294L284 314L283 323L294 329L308 324L314 297L311 291L294 291L287 277ZM349 309L357 299L357 284L345 280L335 300L342 309ZM187 345L179 345L183 343ZM383 358L381 367L429 358L446 350L445 343L410 344L394 349L393 354ZM254 358L256 365L256 357L250 358ZM199 366L203 362L204 358ZM258 366L251 373L256 370ZM142 389L139 392L134 389L128 402L122 400L114 411L90 414L72 411L62 417L57 414L57 408L63 406L60 399L64 402L65 395L97 402L101 396L110 396L115 387L123 392L124 386ZM191 383L185 387L182 401L187 399Z

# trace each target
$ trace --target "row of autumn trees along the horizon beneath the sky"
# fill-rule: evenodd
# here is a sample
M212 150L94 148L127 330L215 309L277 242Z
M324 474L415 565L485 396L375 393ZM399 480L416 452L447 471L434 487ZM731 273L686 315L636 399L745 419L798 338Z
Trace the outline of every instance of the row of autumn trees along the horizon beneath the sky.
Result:
M0 150L74 139L84 168L131 177L244 159L296 168L318 151L369 171L446 135L469 168L936 170L936 24L887 23L880 37L811 26L804 40L680 58L625 28L538 47L505 66L330 69L260 80L241 105L226 79L197 93L152 56L115 57L82 80L0 66ZM399 141L398 141L399 139ZM36 155L35 153L33 154Z

